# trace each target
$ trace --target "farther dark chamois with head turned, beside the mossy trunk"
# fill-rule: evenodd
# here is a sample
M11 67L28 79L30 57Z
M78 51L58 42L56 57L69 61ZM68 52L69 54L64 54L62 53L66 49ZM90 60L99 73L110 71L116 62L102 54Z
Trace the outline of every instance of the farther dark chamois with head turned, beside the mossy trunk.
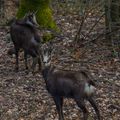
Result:
M27 55L31 55L33 58L32 70L36 63L39 64L39 69L41 69L40 60L40 36L37 30L38 24L36 21L35 13L27 14L21 20L15 20L10 27L10 34L15 48L16 55L16 71L19 69L19 51L24 50L25 67L28 69L27 65Z

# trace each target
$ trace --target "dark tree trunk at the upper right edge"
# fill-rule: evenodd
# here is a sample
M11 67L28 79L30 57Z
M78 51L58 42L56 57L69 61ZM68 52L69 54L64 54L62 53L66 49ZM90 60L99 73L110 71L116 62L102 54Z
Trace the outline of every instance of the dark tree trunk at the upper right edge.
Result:
M111 43L113 54L118 58L119 48L119 31L120 26L120 0L105 0L105 20L106 31L112 34L106 34L106 40ZM111 41L111 42L110 42Z

